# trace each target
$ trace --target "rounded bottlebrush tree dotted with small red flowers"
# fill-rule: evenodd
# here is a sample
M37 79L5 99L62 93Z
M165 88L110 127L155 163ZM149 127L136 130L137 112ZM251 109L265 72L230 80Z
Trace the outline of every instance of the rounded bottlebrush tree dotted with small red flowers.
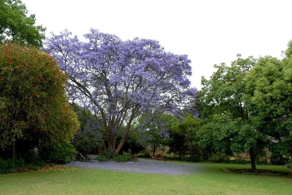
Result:
M55 60L35 47L0 45L0 147L18 139L69 143L79 129L67 103L67 77Z

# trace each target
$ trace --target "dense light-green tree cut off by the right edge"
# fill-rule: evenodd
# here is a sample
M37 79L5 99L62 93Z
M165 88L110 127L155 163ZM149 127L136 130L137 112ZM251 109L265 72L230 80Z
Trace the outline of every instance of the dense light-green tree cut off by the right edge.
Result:
M270 149L292 155L292 41L283 60L266 56L246 75L246 103L257 129L271 137Z

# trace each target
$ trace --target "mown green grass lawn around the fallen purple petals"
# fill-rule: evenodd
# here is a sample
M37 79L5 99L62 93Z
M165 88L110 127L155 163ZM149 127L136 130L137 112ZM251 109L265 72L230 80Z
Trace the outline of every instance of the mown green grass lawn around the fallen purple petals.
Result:
M171 161L178 165L189 162ZM194 164L194 163L189 163ZM0 175L0 194L292 194L287 176L225 173L221 168L249 165L208 164L197 174L155 175L90 168L62 167L51 171ZM259 165L292 174L283 166Z

